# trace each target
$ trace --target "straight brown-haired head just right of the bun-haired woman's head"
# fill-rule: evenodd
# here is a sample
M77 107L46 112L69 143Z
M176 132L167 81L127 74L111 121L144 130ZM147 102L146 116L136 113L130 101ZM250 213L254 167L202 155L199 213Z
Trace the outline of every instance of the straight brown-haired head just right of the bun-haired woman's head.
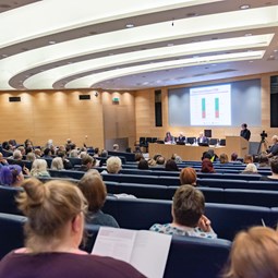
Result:
M78 182L78 188L88 202L88 210L97 213L105 204L107 190L97 170L87 171Z

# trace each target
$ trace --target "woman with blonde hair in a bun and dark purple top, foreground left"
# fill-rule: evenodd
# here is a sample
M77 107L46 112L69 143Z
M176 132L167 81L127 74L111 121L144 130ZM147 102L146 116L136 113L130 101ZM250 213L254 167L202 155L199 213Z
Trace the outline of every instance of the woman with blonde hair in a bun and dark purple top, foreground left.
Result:
M1 261L0 277L144 277L122 261L78 250L86 201L77 186L57 180L43 184L35 179L22 186L25 191L17 201L28 218L25 247Z

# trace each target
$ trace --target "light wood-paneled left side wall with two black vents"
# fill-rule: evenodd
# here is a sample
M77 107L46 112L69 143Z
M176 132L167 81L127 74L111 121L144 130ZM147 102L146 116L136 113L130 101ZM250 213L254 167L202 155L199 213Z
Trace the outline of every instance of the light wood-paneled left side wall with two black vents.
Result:
M90 99L80 100L82 94ZM9 102L10 96L21 101ZM0 93L0 126L1 142L31 138L35 145L45 145L52 138L59 145L71 138L78 146L104 147L101 95L95 97L90 90Z

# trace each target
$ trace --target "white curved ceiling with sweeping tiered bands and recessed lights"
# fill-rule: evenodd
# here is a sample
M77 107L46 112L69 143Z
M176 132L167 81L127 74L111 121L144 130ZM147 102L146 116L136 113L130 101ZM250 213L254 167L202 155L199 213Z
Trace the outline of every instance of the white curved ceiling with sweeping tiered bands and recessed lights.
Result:
M0 89L141 89L278 71L278 0L0 3Z

